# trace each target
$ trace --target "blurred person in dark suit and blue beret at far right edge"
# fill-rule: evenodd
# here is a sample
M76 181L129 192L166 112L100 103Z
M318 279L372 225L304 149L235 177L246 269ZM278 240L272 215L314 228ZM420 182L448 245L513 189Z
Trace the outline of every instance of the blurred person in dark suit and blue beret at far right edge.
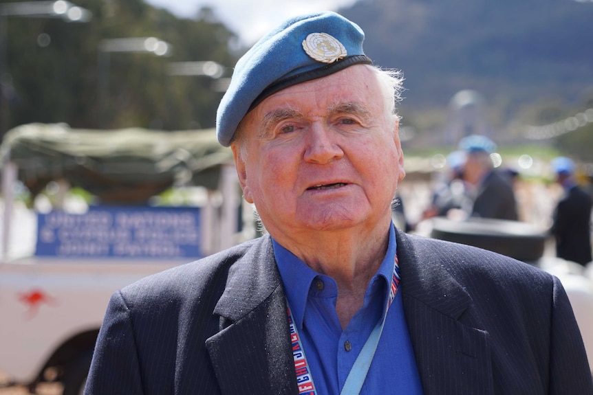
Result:
M564 189L554 210L550 230L556 240L556 255L586 265L592 260L591 195L574 182L574 163L570 159L555 158L552 166L557 174L557 181Z

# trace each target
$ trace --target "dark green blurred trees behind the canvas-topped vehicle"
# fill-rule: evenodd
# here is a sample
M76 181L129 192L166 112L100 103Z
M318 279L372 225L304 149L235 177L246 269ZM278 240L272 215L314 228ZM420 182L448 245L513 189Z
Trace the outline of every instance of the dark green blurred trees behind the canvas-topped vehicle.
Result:
M92 12L89 23L8 17L10 127L30 122L165 130L214 126L222 93L213 91L213 80L167 74L171 62L213 60L226 69L235 64L229 43L236 36L211 10L192 20L141 0L75 2ZM105 39L149 36L170 43L172 55L99 50ZM108 56L107 69L100 69L101 56ZM100 95L100 76L107 76L106 97Z

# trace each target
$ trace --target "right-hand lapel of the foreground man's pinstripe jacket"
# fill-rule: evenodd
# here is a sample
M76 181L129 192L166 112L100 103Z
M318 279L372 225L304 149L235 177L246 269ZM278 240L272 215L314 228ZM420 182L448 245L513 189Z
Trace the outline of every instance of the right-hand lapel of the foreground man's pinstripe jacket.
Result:
M471 296L430 240L398 231L402 298L424 395L491 394L488 332L465 324ZM429 241L429 242L427 242Z

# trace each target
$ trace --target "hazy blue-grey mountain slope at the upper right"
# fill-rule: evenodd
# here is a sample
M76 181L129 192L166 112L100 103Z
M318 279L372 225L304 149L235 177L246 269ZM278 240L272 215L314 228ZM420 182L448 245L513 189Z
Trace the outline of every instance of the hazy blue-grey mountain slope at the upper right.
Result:
M591 95L593 1L359 0L339 12L376 64L403 71L405 106L446 106L462 89L510 106Z

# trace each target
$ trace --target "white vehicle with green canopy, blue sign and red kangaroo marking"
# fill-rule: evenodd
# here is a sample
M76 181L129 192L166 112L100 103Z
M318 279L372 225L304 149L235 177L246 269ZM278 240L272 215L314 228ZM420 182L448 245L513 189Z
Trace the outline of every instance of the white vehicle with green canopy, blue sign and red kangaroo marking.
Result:
M232 155L213 131L31 124L10 131L1 151L4 386L34 392L39 383L59 382L63 394L81 394L112 293L244 238L237 232L241 203ZM68 205L58 187L52 207L43 207L40 194L30 210L13 199L19 183L32 194L47 183L80 186L103 204ZM182 195L189 204L148 204L176 185L184 187L176 199Z

